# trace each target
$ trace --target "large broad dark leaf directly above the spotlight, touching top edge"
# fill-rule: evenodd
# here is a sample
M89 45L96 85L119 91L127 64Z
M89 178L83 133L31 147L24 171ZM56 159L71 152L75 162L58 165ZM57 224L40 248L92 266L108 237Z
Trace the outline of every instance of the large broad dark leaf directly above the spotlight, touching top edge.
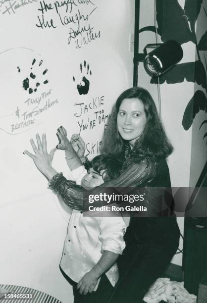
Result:
M172 39L180 44L189 41L195 43L185 12L177 0L156 0L156 10L156 20L163 42Z

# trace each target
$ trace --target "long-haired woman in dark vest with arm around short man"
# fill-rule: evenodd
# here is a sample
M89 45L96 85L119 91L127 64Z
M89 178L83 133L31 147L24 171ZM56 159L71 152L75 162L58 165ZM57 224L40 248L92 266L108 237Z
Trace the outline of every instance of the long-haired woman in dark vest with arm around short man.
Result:
M31 142L35 155L26 153L51 179L51 188L58 191L70 207L82 209L81 188L56 174L52 157L48 160L45 152L46 143L43 142L44 152L41 152L40 138L38 142L38 150ZM119 188L122 193L132 189L139 193L139 187L145 188L143 205L147 207L148 216L130 220L125 235L126 249L119 260L120 279L109 300L110 303L139 303L176 253L180 236L171 206L165 205L163 210L163 197L157 194L157 188L171 186L165 158L172 152L172 146L148 91L131 88L118 97L104 135L102 152L122 160L123 168L117 179L96 188L96 194L103 187ZM75 156L72 166L72 169L80 166ZM86 204L84 202L84 206Z

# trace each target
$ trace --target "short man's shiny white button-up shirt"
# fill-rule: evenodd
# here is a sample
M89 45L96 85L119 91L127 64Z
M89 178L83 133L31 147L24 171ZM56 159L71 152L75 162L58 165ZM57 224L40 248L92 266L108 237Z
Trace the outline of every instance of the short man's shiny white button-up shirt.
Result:
M67 179L81 183L86 174L81 166L67 174ZM75 282L90 271L99 261L104 251L122 254L125 243L123 235L126 224L118 217L86 217L82 211L72 210L68 224L67 236L60 261L60 267ZM118 281L118 268L115 263L106 273L114 287ZM100 279L96 285L97 290Z

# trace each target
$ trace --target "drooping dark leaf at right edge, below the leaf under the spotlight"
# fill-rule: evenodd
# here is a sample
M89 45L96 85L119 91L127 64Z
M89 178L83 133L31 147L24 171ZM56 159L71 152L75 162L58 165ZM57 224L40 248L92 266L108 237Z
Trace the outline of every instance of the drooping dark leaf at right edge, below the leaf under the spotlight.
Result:
M183 115L182 125L185 130L188 130L191 127L196 114L200 110L205 110L205 112L207 112L207 97L204 92L198 90L188 102Z

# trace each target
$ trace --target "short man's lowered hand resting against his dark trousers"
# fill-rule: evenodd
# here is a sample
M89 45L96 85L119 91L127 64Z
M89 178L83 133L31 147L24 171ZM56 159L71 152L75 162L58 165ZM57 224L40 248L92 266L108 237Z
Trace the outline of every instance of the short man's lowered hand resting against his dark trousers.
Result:
M92 293L98 282L98 278L92 273L92 271L87 272L81 280L78 282L77 289L82 295L87 295Z

